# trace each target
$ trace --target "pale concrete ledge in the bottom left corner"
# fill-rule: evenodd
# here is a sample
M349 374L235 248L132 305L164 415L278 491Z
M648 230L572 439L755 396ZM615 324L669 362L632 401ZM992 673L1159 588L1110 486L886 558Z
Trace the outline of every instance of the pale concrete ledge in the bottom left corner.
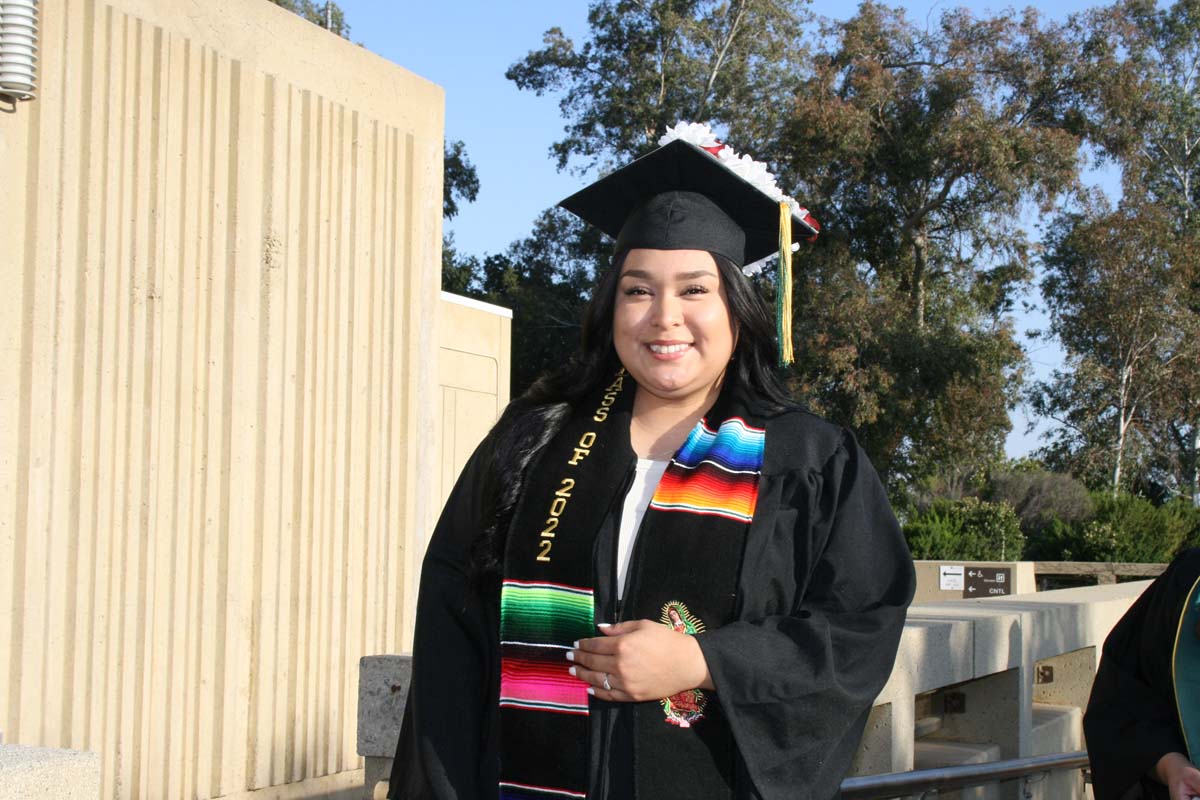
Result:
M100 756L80 750L0 745L0 800L96 800Z

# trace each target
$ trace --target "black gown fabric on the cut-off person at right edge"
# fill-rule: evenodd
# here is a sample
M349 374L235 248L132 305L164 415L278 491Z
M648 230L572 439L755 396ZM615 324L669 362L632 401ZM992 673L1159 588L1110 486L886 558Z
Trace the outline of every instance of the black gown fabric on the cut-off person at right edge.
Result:
M1096 800L1169 796L1166 787L1147 774L1166 753L1188 753L1175 708L1171 661L1180 614L1198 576L1200 549L1184 551L1104 640L1084 715Z

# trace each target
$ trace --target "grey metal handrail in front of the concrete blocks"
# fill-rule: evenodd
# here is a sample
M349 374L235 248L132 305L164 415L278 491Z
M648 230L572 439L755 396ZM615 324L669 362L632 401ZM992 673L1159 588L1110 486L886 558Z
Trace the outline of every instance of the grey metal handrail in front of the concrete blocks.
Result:
M1039 772L1081 769L1087 766L1087 752L1056 753L1054 756L1028 756L1004 762L940 766L911 772L886 772L850 777L841 782L842 800L884 800L930 789L961 789L980 783L1010 781Z

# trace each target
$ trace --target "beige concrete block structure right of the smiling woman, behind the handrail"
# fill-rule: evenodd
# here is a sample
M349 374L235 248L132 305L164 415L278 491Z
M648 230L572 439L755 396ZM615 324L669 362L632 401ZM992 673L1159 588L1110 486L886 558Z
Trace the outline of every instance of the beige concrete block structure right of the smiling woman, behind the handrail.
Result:
M952 748L930 751L923 742L995 746L1004 759L1081 750L1082 709L1100 645L1147 585L913 606L896 666L877 699L893 709L894 760L881 771L913 769L913 754L923 747L925 765L978 758L977 747L955 756ZM922 706L936 715L936 724L917 724ZM1015 800L1026 789L1045 800L1084 796L1078 772L1009 781L986 796Z

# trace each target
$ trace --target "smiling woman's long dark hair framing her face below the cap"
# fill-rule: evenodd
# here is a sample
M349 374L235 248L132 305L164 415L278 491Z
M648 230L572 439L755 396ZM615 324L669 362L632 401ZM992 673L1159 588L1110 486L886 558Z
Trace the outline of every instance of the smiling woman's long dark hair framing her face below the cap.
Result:
M626 253L613 257L612 265L596 282L592 301L583 312L578 351L563 367L539 378L521 397L522 405L574 404L595 395L612 379L612 373L620 366L612 343L612 314ZM796 405L776 372L779 347L775 343L775 320L767 302L733 261L716 253L710 255L716 261L737 331L733 361L725 380L757 395L769 407L782 409Z

